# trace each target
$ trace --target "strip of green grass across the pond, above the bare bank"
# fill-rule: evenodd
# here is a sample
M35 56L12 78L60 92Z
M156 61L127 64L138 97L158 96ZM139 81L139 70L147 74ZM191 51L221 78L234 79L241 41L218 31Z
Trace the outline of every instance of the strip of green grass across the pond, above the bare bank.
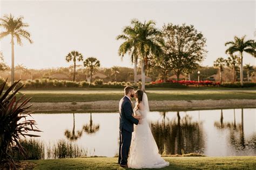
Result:
M31 102L90 102L120 100L123 97L122 89L105 90L22 90L18 96L26 94L32 97ZM256 90L228 89L228 90L147 90L149 100L220 100L220 99L256 99Z

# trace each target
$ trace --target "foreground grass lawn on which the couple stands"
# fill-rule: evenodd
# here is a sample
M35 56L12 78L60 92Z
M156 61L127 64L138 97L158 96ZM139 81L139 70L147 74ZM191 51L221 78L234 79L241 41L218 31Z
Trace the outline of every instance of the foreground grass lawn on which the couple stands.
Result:
M256 157L164 157L170 166L163 169L255 169ZM123 169L117 158L74 158L30 160L35 169Z

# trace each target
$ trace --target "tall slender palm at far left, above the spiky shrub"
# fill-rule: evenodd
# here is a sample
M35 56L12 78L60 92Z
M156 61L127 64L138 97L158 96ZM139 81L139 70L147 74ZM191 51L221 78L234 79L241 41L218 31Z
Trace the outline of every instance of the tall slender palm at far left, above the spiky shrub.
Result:
M22 38L28 40L30 44L33 41L30 39L30 33L25 30L29 26L27 23L23 23L23 17L17 17L10 15L4 15L0 18L0 27L3 27L4 31L0 32L0 39L11 35L11 84L14 84L14 39L16 38L17 44L22 46Z

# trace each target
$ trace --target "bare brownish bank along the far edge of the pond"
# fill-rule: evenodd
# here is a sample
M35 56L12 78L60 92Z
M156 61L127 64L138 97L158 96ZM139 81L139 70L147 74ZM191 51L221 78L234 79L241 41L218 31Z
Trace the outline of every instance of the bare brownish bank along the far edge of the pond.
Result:
M39 112L118 112L117 100L93 102L30 102ZM134 105L133 101L133 105ZM151 111L184 111L230 108L256 108L253 99L149 101Z

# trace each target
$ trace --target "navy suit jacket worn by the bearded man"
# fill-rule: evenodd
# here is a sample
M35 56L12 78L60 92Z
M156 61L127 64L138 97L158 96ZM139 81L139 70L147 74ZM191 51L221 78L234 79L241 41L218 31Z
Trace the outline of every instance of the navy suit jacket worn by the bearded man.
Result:
M124 96L119 102L119 129L125 129L126 131L133 132L133 124L138 124L138 119L134 118L132 102L131 100Z

